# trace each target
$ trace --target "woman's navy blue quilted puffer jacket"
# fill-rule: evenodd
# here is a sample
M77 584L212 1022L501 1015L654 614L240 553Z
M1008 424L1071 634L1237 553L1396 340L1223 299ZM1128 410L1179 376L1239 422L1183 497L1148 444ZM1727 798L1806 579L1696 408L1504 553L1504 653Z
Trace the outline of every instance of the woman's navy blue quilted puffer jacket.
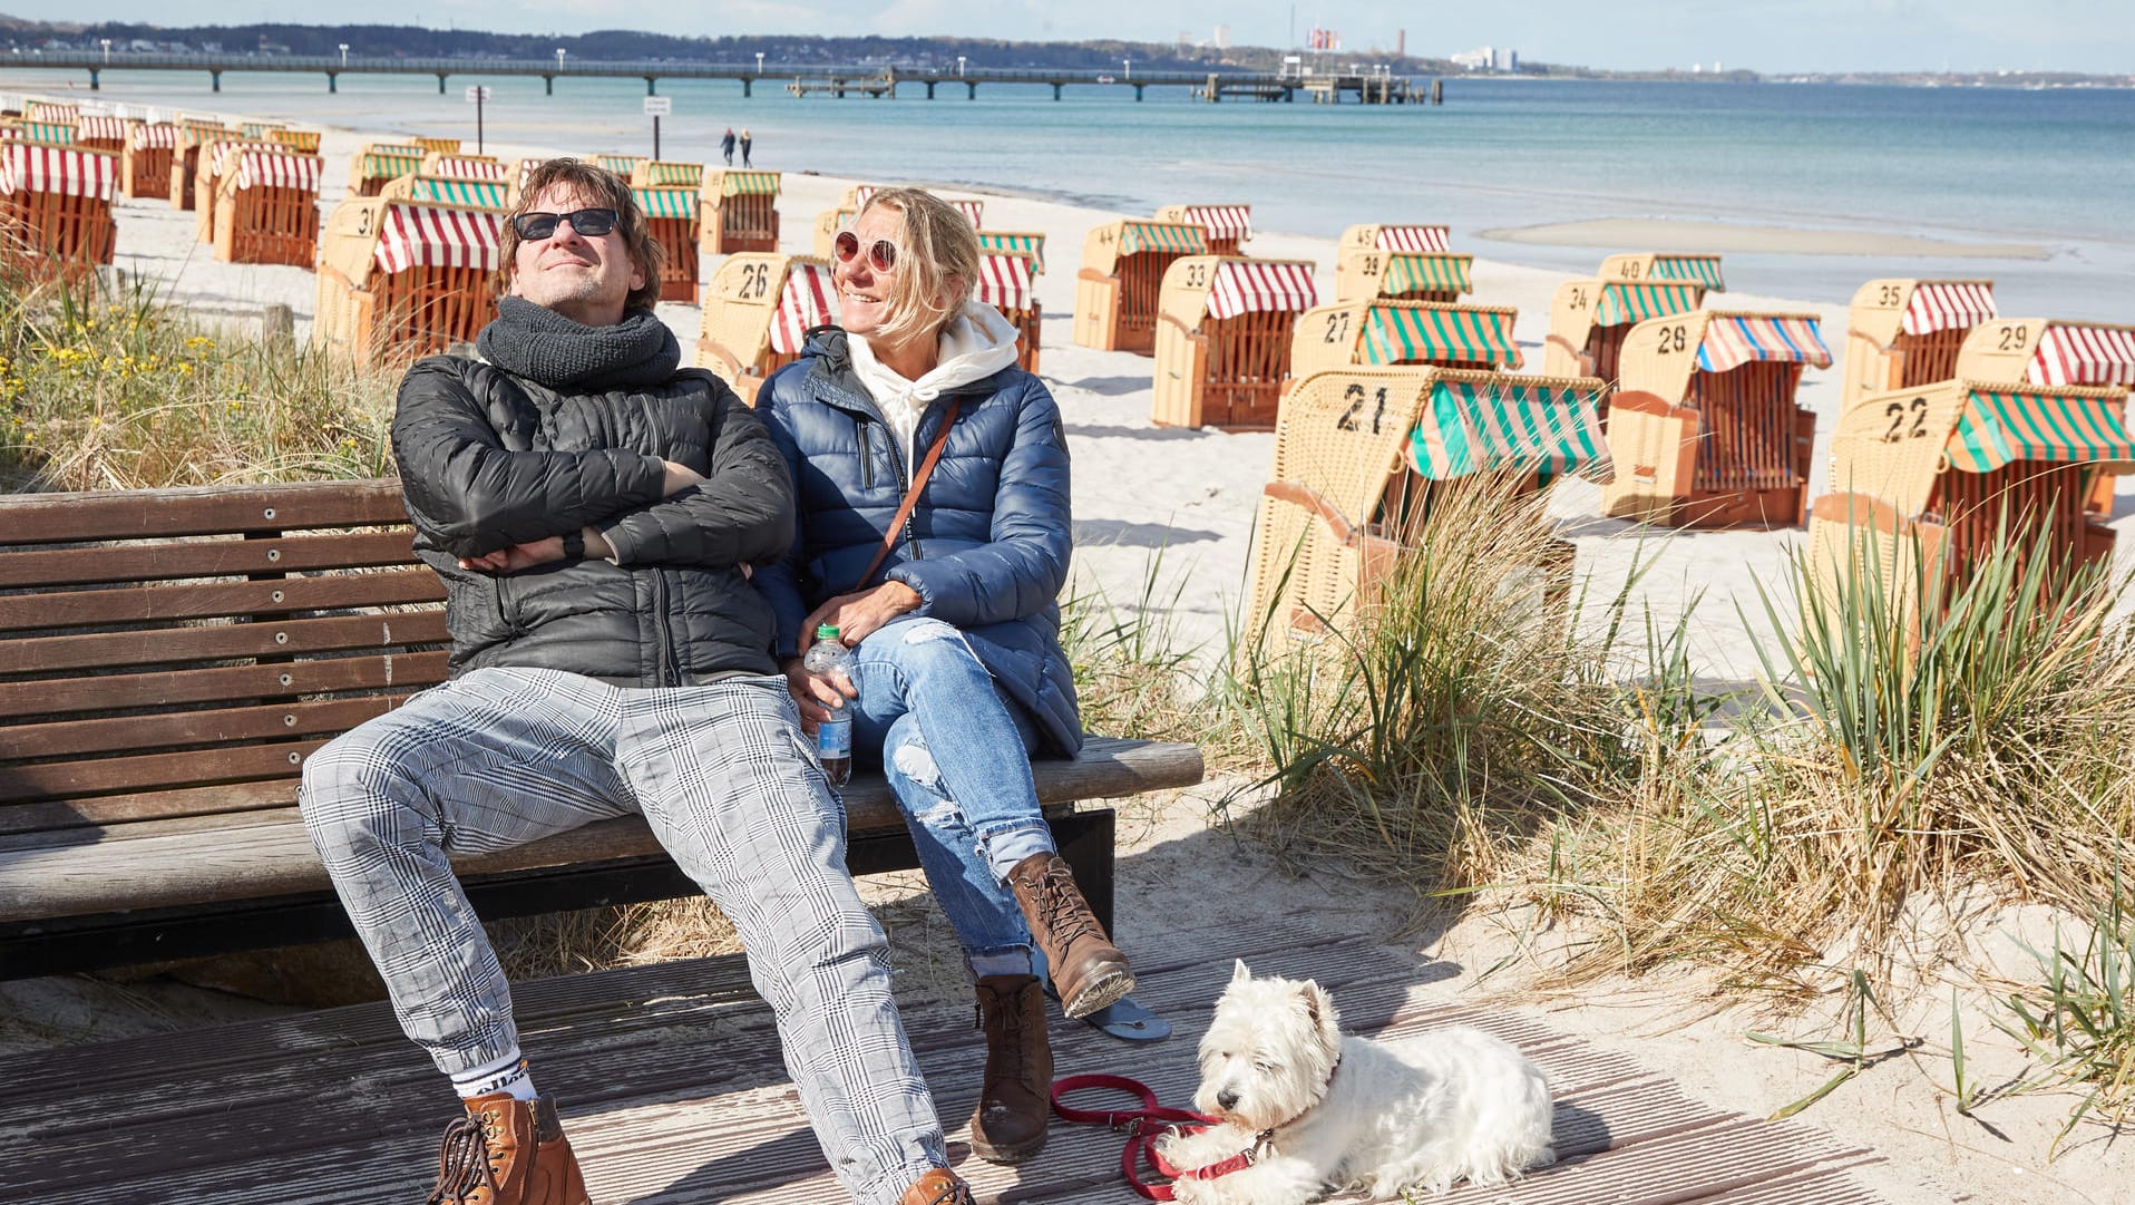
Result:
M1006 367L946 391L914 434L927 449L952 412L942 461L905 536L867 585L903 581L914 615L963 628L1001 692L1023 705L1053 752L1082 748L1074 673L1061 652L1055 602L1068 581L1068 436L1046 387ZM897 517L912 468L845 353L845 331L809 333L796 363L756 400L786 455L798 502L798 538L781 564L756 573L777 613L779 658L801 650L801 624L856 579Z

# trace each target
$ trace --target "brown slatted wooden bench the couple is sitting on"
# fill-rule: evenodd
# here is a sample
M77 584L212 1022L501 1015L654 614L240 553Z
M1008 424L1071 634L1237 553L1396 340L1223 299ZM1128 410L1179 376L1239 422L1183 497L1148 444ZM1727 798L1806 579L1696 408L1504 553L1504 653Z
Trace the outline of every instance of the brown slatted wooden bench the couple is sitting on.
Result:
M303 761L446 675L444 588L393 481L0 498L0 979L348 936L297 816ZM1112 812L1193 746L1038 761L1110 925ZM854 874L916 867L880 776ZM483 917L696 893L636 816L455 863Z

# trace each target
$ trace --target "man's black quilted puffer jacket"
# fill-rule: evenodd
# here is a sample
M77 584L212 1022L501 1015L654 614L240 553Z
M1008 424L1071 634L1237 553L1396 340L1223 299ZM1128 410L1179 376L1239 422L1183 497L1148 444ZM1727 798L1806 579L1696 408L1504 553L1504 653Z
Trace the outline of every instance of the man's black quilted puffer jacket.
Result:
M444 577L453 673L532 667L617 686L775 673L775 622L741 575L786 553L792 483L764 425L709 372L555 393L463 357L416 363L393 455L416 553ZM705 483L662 498L664 459ZM459 558L600 530L615 562L525 573Z

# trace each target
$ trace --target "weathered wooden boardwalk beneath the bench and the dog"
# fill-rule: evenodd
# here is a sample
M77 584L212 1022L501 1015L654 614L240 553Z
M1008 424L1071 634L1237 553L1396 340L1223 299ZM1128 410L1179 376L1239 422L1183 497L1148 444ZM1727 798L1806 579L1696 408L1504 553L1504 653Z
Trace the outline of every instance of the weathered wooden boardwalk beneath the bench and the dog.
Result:
M1151 949L1155 946L1155 949ZM1847 1169L1870 1156L1796 1124L1721 1113L1631 1060L1484 1008L1435 1004L1428 968L1304 925L1174 932L1142 942L1151 1008L1176 1023L1127 1045L1057 1019L1059 1070L1151 1083L1166 1105L1193 1092L1193 1045L1245 957L1258 974L1319 979L1349 1032L1401 1038L1445 1023L1492 1030L1556 1090L1559 1164L1527 1181L1456 1188L1443 1201L1501 1205L1872 1205ZM741 959L700 959L525 983L523 1040L587 1169L594 1201L619 1205L837 1203L779 1062L771 1013ZM984 1062L967 1002L905 1006L944 1117L971 1113ZM9 1060L0 1083L0 1201L41 1205L412 1205L429 1190L455 1102L382 1004ZM1089 1098L1082 1105L1097 1105ZM950 1156L980 1201L1117 1203L1121 1137L1055 1122L1018 1169Z

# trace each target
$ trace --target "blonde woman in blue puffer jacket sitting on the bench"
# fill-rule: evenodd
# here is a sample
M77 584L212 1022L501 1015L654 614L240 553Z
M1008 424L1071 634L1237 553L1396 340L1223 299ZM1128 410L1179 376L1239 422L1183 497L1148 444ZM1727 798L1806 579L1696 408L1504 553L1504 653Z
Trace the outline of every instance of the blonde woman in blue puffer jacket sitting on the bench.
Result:
M946 201L875 192L835 259L843 329L811 331L758 397L801 528L756 583L803 720L850 699L854 756L880 761L897 793L978 989L971 1145L1018 1162L1050 1113L1040 974L1070 1017L1134 989L1031 784L1029 754L1082 748L1055 605L1070 553L1061 414L1016 367L1016 329L969 299L978 235ZM818 624L852 645L850 679L801 662Z

